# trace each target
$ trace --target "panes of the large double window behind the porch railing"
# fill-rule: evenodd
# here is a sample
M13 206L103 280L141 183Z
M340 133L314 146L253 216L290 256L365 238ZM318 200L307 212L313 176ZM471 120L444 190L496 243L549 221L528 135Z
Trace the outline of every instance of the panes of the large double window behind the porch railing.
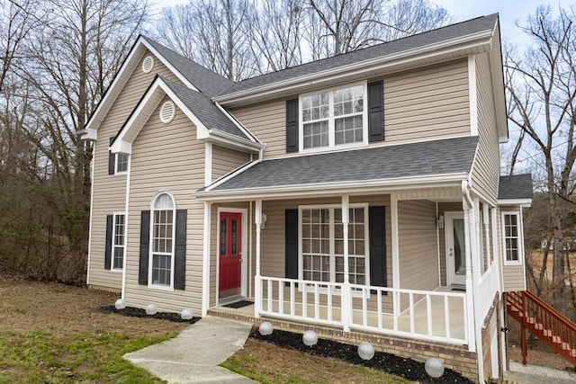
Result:
M368 284L368 210L349 209L348 272L352 284ZM302 279L344 282L344 227L338 207L301 208Z

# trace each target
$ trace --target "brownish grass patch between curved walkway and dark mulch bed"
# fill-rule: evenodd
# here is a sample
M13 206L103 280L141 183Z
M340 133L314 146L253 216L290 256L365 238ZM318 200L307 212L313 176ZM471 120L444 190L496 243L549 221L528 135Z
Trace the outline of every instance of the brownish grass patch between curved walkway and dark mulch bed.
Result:
M252 338L248 338L244 348L220 366L264 384L409 382L383 371L281 348Z

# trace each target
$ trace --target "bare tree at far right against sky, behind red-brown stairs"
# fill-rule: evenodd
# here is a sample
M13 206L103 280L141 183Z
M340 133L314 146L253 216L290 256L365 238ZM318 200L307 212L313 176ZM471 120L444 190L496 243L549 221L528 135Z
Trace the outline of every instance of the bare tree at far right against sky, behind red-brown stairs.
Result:
M524 55L506 56L509 121L526 132L521 143L536 150L544 167L549 222L554 244L554 302L565 312L565 220L576 184L574 142L576 97L576 14L564 9L554 18L550 7L540 6L522 29L530 38ZM521 136L522 137L522 136ZM521 161L515 161L518 166ZM513 172L513 169L511 170Z

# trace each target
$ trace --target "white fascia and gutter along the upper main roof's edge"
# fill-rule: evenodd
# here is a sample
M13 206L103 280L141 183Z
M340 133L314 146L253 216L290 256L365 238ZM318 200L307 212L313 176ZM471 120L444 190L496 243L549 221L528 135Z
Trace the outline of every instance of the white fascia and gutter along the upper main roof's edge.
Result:
M226 103L239 102L243 99L249 99L254 95L274 94L282 90L289 90L291 88L300 86L302 84L314 84L316 81L325 79L326 77L338 78L344 76L360 75L364 72L373 71L374 69L392 67L416 61L422 58L430 58L434 56L441 56L448 53L453 53L458 50L473 49L485 45L490 46L493 31L482 31L470 35L462 36L457 39L445 40L436 44L429 44L417 49L407 49L392 55L387 55L379 58L372 58L365 61L360 61L347 66L331 68L325 71L319 71L306 76L294 77L284 81L275 82L269 85L261 85L254 88L249 88L244 91L239 91L234 94L223 94L214 97L212 100L225 105Z

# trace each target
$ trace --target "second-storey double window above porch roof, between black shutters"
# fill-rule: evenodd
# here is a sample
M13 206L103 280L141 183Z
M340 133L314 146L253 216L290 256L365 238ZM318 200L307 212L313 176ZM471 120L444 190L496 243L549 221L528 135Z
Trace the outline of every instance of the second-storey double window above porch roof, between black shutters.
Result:
M302 95L302 145L306 149L367 143L365 85Z

